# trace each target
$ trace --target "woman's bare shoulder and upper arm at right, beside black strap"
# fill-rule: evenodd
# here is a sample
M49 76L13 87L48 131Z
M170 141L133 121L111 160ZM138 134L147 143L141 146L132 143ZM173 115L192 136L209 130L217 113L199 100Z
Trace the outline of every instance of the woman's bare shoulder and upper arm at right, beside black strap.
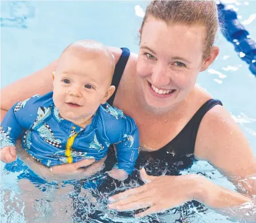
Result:
M213 106L205 113L197 133L194 151L197 159L208 160L225 172L238 174L241 159L248 164L239 174L245 174L253 163L252 152L245 135L224 106ZM234 163L237 166L234 166Z

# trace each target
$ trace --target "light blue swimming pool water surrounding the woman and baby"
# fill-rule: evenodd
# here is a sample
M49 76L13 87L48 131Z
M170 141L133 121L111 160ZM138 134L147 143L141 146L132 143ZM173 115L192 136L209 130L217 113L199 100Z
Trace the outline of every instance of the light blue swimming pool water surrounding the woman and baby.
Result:
M250 32L251 38L256 40L256 2L224 2L229 2L230 7L238 10L239 19ZM137 30L145 5L145 1L1 2L1 88L44 67L56 59L68 44L78 39L95 39L108 46L128 47L138 52ZM217 44L221 48L220 55L208 71L200 74L197 82L214 98L223 102L241 126L256 154L255 76L251 75L247 64L239 59L233 46L221 34L218 35ZM206 162L196 162L189 172L201 172L203 168L204 174L210 179L234 189L233 184ZM55 218L55 222L70 222L71 218L79 222L77 212L80 215L82 212L84 219L88 217L84 222L135 222L133 218L121 217L105 208L109 194L99 194L93 189L85 189L82 196L77 196L76 188L66 186L67 193L69 190L74 192L73 201L68 200L66 195L59 195L55 185L45 182L38 183L41 190L36 195L31 196L29 190L21 194L19 174L21 172L7 171L1 163L1 222L25 222L22 197L38 200L34 207L37 216L32 218L32 222L47 222L49 216ZM97 177L104 180L105 175L99 174L91 179L90 187ZM134 182L117 185L116 191L134 185ZM76 207L74 201L82 205ZM97 213L96 210L104 213L97 220L91 218ZM56 212L60 214L56 216ZM181 218L183 222L238 222L213 210L203 209L200 212L189 205L176 212L155 215L155 222L182 222L176 221ZM148 218L137 220L149 221Z

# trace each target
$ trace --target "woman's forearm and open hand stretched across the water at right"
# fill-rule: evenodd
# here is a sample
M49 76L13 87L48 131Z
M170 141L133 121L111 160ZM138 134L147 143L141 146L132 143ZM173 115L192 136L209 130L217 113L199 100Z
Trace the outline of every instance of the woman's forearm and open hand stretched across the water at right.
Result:
M136 215L144 217L178 207L190 200L197 200L215 209L230 206L236 208L237 205L251 201L249 197L220 187L201 175L149 176L143 168L140 170L140 176L145 184L109 197L113 202L108 205L110 209L136 210L149 207ZM204 193L207 196L203 196ZM254 219L255 216L249 217Z

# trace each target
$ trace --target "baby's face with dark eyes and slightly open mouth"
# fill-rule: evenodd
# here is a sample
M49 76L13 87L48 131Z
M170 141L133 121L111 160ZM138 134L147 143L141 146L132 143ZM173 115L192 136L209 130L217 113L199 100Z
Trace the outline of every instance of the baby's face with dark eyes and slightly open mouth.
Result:
M60 116L74 122L94 114L106 102L112 72L106 58L64 53L54 77L53 100Z

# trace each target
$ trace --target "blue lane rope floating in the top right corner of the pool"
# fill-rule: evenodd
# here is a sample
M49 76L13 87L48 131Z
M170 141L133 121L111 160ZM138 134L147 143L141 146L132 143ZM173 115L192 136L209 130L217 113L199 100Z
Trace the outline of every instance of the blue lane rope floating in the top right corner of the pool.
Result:
M250 38L249 32L237 18L233 9L216 2L219 13L219 21L223 24L222 34L227 41L233 44L238 56L249 64L249 69L256 77L256 42Z

